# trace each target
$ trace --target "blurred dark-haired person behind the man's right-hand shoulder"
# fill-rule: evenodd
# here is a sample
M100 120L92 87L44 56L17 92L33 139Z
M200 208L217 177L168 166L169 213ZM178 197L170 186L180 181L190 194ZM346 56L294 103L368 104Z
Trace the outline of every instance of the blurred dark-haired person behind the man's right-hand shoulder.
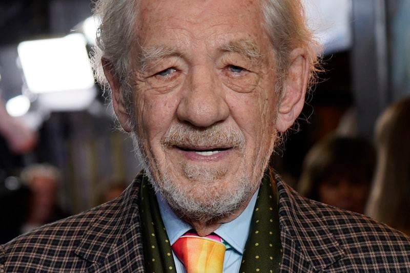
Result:
M332 135L316 143L303 162L298 192L363 214L376 165L370 141Z

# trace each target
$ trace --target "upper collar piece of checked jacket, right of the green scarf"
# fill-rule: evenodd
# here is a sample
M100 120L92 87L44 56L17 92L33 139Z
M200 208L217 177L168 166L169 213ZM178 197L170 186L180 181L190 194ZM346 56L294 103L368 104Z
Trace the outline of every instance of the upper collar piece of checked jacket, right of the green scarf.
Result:
M289 234L304 258L320 271L345 256L314 201L301 197L275 173L281 233ZM283 243L283 241L282 241ZM285 248L285 246L284 246Z

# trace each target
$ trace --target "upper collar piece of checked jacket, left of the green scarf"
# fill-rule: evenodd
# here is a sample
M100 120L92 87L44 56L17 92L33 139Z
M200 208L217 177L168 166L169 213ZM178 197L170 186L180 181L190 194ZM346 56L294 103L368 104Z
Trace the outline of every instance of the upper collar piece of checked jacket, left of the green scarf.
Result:
M137 215L137 197L143 174L116 199L97 206L89 214L94 221L88 226L75 254L89 262L101 264L117 245L125 228L130 228L132 218Z

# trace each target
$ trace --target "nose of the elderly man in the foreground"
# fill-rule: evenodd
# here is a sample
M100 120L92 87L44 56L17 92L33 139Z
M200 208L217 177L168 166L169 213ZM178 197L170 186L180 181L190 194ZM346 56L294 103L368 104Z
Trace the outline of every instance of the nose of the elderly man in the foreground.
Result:
M180 121L196 127L209 127L228 118L229 106L222 87L217 85L216 77L205 66L191 70L177 109Z

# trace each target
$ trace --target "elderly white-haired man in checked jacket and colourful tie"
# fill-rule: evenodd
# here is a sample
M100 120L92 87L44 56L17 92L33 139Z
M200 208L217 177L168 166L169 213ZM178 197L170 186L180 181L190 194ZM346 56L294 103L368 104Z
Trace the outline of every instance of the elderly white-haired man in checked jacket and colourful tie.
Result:
M102 0L97 12L97 75L144 173L118 199L3 246L1 269L410 268L404 235L303 199L267 169L316 60L299 1Z

